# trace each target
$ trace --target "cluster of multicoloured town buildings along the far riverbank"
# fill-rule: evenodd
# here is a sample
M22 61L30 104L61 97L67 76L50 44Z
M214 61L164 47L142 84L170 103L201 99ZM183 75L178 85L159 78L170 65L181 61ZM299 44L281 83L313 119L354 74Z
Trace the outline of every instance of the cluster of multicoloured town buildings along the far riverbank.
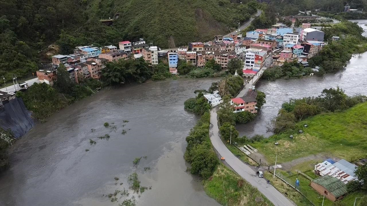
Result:
M287 17L294 24L296 17ZM297 19L312 21L314 16L297 16ZM78 46L69 55L54 55L50 67L38 70L40 82L52 85L56 80L56 70L60 64L65 65L70 79L79 82L80 78L101 78L101 71L106 63L119 59L143 58L154 66L159 59L164 59L172 75L178 75L178 61L202 68L208 60L214 59L222 69L227 69L231 59L243 61L243 76L253 77L259 70L268 66L281 66L284 62L297 60L300 65L308 66L308 60L315 56L327 42L324 41L323 27L302 23L301 27L286 26L283 23L272 25L269 29L256 29L246 32L240 30L230 33L229 37L216 35L214 40L202 43L192 42L178 48L161 49L153 43L147 44L143 38L139 41L121 41L118 47L106 45ZM339 37L333 37L338 40ZM270 60L266 62L266 59ZM317 68L315 68L317 71Z

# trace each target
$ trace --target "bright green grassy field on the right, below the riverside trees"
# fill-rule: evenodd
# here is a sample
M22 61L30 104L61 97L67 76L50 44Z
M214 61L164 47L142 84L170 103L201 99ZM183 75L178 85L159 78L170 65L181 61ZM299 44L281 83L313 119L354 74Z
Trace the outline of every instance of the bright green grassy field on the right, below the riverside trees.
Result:
M307 128L302 125L307 124ZM274 135L268 142L251 144L265 155L268 163L289 162L312 154L324 153L332 157L353 161L366 157L367 150L367 103L348 110L316 115L299 122L303 134ZM279 142L275 145L275 142Z

